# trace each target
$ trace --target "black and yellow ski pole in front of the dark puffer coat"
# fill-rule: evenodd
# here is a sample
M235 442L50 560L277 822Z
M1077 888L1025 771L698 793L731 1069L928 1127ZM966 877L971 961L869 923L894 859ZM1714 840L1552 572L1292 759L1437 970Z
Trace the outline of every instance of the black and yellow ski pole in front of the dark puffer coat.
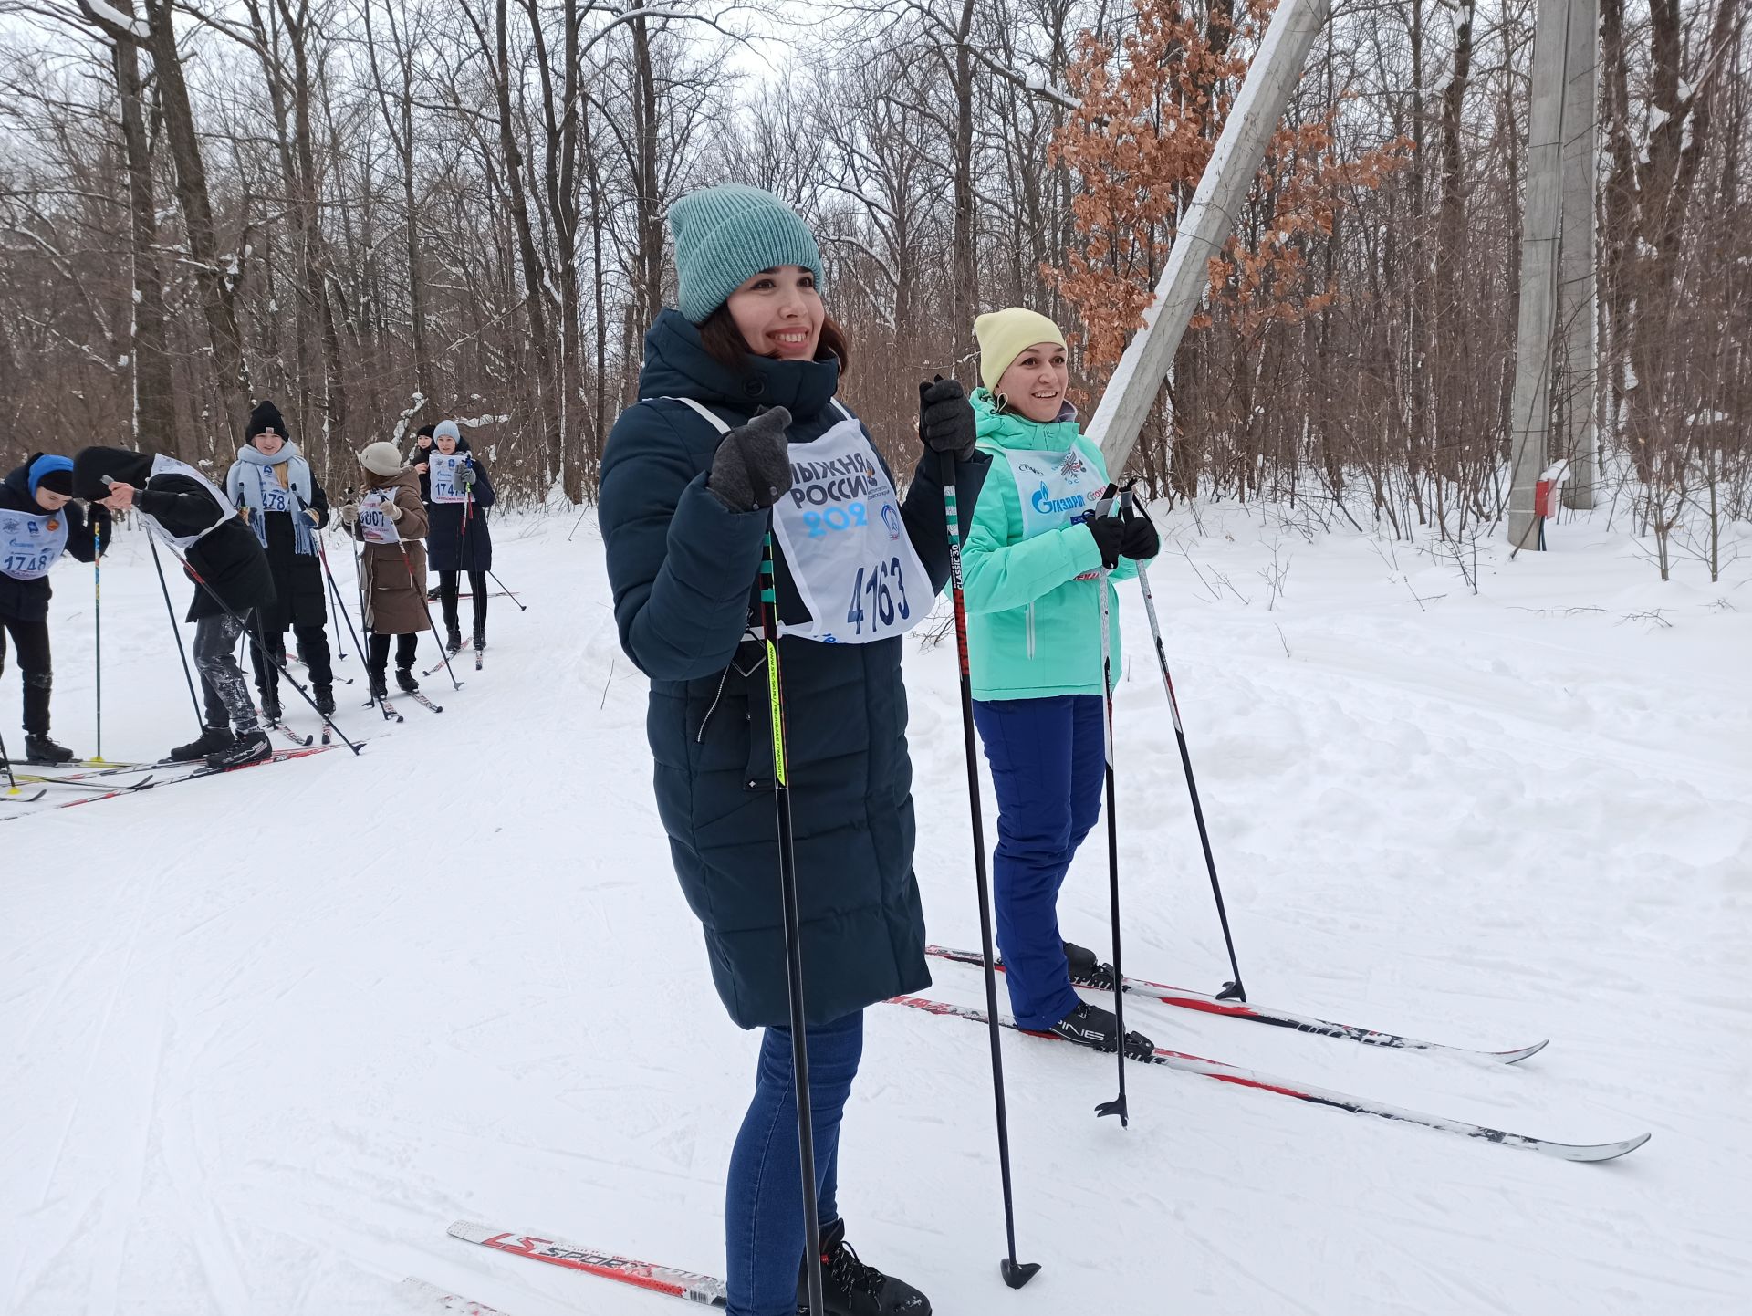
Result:
M809 1043L802 1009L802 916L797 913L797 848L790 827L790 768L785 759L785 690L778 673L778 591L773 529L760 550L760 638L767 657L767 704L773 720L773 810L778 818L778 885L785 906L785 985L790 995L790 1071L797 1093L797 1155L802 1162L802 1220L808 1228L809 1316L822 1316L822 1221L815 1195L815 1109L809 1102Z

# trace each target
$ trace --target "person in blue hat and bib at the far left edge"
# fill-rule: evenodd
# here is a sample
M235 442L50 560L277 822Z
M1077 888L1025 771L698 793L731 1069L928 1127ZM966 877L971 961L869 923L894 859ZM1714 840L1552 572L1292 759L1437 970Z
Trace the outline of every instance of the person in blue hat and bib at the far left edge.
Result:
M74 498L72 457L32 452L0 482L0 673L7 636L25 682L25 762L70 762L74 752L49 738L49 568L63 552L81 562L109 543L109 508L93 506L89 524Z

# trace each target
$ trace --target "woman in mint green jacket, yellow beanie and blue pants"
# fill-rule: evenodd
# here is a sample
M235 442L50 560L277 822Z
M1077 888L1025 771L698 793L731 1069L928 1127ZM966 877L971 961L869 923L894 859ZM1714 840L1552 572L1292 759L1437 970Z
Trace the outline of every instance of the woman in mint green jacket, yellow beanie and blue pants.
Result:
M1111 578L1137 575L1160 543L1142 513L1097 517L1107 485L1100 449L1067 401L1065 338L1021 307L974 321L972 407L992 468L962 548L974 725L997 789L997 943L1023 1029L1118 1050L1111 1011L1072 983L1106 987L1113 969L1058 932L1058 888L1100 817L1106 752L1100 591L1109 591L1113 671L1120 669ZM1135 1032L1127 1051L1149 1053Z

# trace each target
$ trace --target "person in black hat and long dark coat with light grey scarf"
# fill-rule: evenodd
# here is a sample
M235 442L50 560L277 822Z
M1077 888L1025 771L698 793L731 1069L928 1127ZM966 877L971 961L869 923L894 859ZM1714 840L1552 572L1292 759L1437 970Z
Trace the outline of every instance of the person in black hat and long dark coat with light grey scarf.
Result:
M286 631L291 629L298 638L298 655L310 668L315 704L322 713L333 713L335 671L324 629L328 592L317 554L317 531L328 524L328 494L298 445L286 436L286 421L272 401L256 403L244 440L224 491L268 550L273 571L273 603L256 610L263 645L251 645L261 706L272 720L279 720L280 668L286 666Z

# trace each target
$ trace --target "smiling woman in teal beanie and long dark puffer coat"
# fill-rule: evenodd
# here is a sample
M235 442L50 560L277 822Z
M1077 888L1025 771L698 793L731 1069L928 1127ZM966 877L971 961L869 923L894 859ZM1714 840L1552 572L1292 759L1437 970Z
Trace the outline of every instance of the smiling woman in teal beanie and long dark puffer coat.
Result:
M844 338L816 291L815 237L778 198L711 187L669 224L680 314L645 335L639 401L604 452L601 527L620 643L650 678L682 894L731 1018L766 1029L725 1190L729 1312L792 1316L806 1277L773 729L750 638L771 526L827 1311L925 1316L916 1288L846 1246L836 1192L864 1008L930 983L901 647L948 578L937 456L902 501L834 396ZM971 489L985 459L957 398L936 386L922 433L967 463Z

